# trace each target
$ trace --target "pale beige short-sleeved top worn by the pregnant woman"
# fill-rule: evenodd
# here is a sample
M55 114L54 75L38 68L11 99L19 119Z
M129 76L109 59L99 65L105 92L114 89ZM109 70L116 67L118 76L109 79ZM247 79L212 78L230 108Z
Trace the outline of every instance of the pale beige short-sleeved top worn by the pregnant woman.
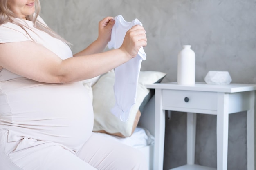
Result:
M31 21L20 21L26 22L27 32L37 43L62 59L72 57L67 44L34 28ZM0 26L0 43L21 41L31 41L22 28L12 23ZM76 151L90 137L92 128L92 101L81 82L42 83L0 70L0 129L9 130L8 141L27 137Z

